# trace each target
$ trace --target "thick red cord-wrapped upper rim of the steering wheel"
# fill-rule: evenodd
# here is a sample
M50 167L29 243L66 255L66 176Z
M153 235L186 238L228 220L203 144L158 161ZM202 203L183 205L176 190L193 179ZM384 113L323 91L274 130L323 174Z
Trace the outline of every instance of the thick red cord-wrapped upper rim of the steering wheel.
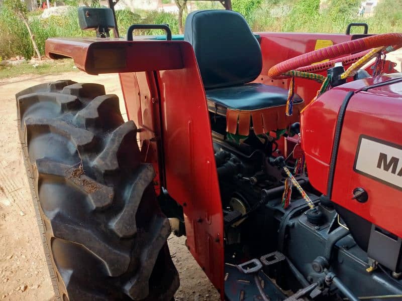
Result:
M375 47L388 45L400 46L401 44L402 34L398 33L382 34L357 40L351 40L308 52L276 64L275 66L271 67L271 69L269 69L268 76L271 78L279 78L281 77L282 73L285 73L289 70L308 66L328 58L335 58L341 55L361 52Z

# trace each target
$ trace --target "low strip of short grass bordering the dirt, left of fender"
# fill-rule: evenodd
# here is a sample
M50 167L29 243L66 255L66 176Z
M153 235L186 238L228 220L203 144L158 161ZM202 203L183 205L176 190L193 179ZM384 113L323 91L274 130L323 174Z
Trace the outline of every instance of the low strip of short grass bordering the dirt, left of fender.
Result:
M73 68L73 66L74 61L72 59L44 62L37 67L34 67L29 63L21 63L15 66L4 65L0 66L0 79L16 77L24 74L41 75L78 71L78 68Z

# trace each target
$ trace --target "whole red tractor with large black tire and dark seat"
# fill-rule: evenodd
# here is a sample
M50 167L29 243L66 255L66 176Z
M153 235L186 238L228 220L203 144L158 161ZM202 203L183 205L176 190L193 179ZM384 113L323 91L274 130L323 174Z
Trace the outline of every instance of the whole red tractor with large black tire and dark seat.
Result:
M171 300L171 231L222 299L401 298L402 74L385 54L402 34L254 34L196 11L184 37L112 39L112 9L79 16L98 38L46 55L119 73L129 121L98 84L16 95L59 299Z

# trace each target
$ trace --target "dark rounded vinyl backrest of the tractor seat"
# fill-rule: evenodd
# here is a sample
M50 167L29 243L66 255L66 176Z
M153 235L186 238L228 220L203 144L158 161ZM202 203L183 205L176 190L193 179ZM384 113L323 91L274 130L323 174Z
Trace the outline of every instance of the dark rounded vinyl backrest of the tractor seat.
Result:
M188 15L184 41L194 48L205 89L241 85L261 73L261 47L242 15L195 11Z

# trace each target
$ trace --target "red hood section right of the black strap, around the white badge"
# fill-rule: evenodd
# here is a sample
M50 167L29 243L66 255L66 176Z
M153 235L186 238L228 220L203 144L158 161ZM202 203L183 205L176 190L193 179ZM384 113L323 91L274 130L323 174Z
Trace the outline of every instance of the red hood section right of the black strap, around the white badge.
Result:
M334 176L332 199L372 223L402 237L402 191L353 170L361 134L402 145L402 82L355 94L349 102ZM400 159L400 158L398 158ZM372 158L377 162L377 158ZM400 165L399 165L400 166ZM402 177L400 178L402 183ZM369 200L352 200L353 189L362 187Z

